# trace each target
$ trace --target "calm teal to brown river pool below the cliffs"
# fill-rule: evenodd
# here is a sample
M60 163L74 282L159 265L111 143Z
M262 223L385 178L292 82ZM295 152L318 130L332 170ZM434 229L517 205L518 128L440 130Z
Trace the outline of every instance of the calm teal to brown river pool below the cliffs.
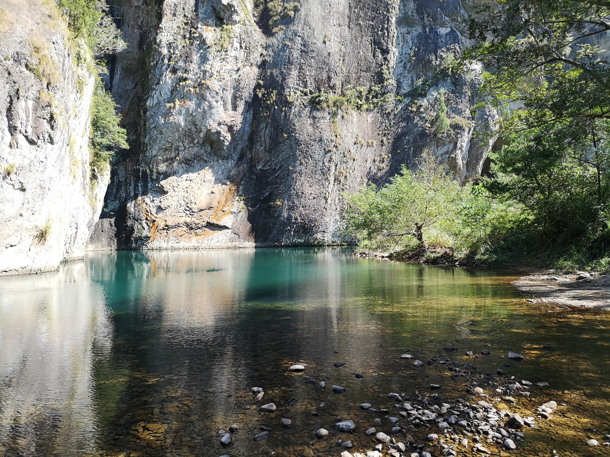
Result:
M468 399L465 377L452 379L446 364L405 366L405 352L547 381L514 409L565 406L537 420L517 454L610 455L584 445L610 433L607 313L531 305L511 286L515 272L350 252L95 253L58 272L0 278L0 456L339 456L338 438L371 450L364 430L382 416L359 403L389 407L389 392L413 398L432 393L430 383ZM465 356L483 349L490 355ZM506 360L509 350L525 360ZM298 361L309 366L290 373ZM261 402L253 386L264 388ZM260 413L269 402L278 411ZM339 417L356 433L334 430ZM231 424L240 431L223 448L215 434ZM269 438L255 442L260 427ZM314 438L320 427L328 438Z

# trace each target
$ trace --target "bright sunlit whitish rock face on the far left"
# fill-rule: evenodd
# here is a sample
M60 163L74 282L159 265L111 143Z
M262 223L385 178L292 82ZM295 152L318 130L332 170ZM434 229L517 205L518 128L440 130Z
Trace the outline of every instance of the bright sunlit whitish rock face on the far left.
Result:
M54 2L0 12L0 275L82 258L108 173L90 179L94 80Z

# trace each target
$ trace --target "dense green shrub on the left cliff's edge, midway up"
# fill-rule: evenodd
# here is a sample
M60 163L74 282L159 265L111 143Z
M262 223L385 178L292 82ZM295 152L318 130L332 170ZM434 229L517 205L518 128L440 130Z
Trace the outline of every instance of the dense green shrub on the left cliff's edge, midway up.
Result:
M120 126L121 116L117 115L117 108L110 93L104 89L104 82L96 78L91 98L89 134L89 164L93 180L107 170L115 148L129 149L127 132Z

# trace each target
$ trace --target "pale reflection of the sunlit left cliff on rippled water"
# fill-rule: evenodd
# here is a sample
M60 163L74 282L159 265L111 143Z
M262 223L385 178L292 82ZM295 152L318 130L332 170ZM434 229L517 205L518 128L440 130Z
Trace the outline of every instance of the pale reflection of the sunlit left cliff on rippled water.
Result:
M65 455L93 449L94 361L112 327L85 263L0 280L0 453Z

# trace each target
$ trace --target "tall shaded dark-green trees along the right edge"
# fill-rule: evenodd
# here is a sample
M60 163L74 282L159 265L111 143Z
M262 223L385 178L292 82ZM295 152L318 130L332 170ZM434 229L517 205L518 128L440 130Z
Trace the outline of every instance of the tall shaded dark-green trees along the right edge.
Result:
M520 230L557 255L578 244L603 256L610 241L610 64L598 43L610 4L500 0L467 21L478 44L461 64L483 62L481 105L501 118L508 143L492 154L487 188L527 211ZM566 254L567 255L567 254Z

